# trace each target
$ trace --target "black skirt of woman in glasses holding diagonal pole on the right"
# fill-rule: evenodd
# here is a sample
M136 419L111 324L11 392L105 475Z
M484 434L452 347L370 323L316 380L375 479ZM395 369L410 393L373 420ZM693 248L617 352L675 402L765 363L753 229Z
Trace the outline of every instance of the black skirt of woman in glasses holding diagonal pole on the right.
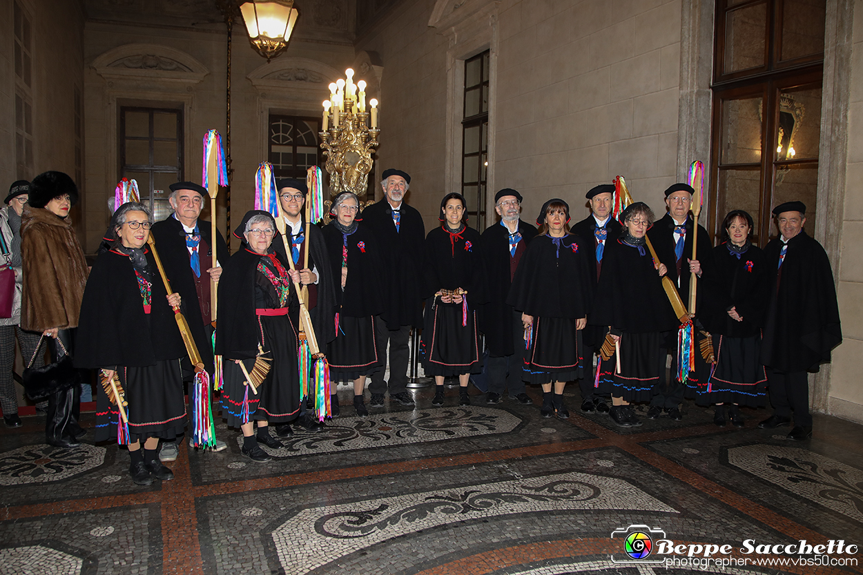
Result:
M650 401L653 386L659 381L659 370L665 369L665 357L659 346L664 339L658 332L624 333L620 336L620 371L617 370L617 351L604 361L599 369L600 385L611 386L611 395L623 401L639 403Z

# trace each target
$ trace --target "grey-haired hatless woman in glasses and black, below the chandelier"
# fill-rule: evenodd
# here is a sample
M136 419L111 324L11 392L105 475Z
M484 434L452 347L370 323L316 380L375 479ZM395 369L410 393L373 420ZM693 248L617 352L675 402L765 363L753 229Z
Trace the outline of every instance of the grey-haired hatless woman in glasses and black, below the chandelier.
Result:
M386 350L379 351L375 343L375 315L384 303L381 251L369 228L356 219L359 205L355 193L341 193L332 207L335 218L324 227L332 276L341 286L336 293L336 338L328 346L327 361L331 380L354 382L354 408L365 417L366 376L381 369ZM332 397L335 415L337 395Z

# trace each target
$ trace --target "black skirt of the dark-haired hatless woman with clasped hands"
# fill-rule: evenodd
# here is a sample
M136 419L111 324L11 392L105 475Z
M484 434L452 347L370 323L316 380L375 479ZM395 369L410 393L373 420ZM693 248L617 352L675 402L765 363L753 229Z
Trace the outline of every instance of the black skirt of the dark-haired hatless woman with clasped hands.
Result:
M467 325L462 304L426 300L420 357L426 376L460 376L482 371L476 311L468 308Z

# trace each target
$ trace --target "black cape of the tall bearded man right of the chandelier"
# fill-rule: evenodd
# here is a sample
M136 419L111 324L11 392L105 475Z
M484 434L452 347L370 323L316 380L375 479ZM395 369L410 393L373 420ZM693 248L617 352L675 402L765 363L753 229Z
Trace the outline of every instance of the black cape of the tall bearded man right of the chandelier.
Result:
M387 199L362 211L362 221L369 225L383 250L387 305L381 317L390 330L402 325L423 325L425 225L419 212L405 202L401 203L400 212L400 231L395 231L393 210Z

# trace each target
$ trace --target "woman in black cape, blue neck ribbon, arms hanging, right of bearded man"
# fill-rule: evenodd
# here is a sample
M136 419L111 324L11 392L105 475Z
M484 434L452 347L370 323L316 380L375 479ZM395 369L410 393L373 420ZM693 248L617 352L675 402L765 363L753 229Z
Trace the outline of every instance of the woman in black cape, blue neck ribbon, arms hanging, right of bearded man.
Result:
M515 270L507 303L525 327L525 381L542 384L540 414L566 419L566 382L578 379L577 332L587 324L593 244L570 234L570 206L550 199L537 218L537 236ZM554 389L552 390L552 383Z

